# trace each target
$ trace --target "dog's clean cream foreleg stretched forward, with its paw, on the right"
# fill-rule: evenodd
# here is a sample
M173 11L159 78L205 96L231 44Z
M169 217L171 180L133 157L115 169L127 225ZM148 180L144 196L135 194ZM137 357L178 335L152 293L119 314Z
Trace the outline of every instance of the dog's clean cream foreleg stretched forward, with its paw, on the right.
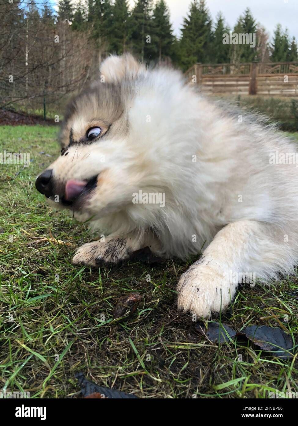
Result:
M211 312L227 308L236 293L238 277L240 281L243 276L266 280L276 278L278 271L291 271L297 243L294 233L287 242L284 234L278 225L250 220L221 229L202 258L181 276L179 308L209 317Z

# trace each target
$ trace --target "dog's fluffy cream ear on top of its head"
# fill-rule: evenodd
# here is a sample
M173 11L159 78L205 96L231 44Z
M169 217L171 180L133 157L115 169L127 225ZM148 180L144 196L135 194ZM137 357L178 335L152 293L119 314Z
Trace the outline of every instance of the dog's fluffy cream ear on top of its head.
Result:
M100 74L105 77L106 83L119 83L124 78L136 78L139 73L145 71L145 66L136 61L130 53L111 55L100 66Z

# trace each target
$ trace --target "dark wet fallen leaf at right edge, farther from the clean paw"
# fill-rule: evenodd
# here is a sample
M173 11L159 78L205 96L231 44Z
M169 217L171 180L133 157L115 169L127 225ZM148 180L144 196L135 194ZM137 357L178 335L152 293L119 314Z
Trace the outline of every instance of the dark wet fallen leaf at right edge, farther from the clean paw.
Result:
M238 334L244 334L254 345L259 346L264 351L273 352L272 355L278 358L293 356L292 338L280 328L268 327L267 325L250 325Z

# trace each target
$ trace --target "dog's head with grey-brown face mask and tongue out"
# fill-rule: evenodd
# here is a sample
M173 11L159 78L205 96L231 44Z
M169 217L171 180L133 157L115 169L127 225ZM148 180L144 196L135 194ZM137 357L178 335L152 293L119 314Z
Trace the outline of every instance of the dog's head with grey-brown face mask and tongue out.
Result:
M69 104L61 155L36 180L52 205L78 218L127 210L140 190L169 192L180 161L173 147L185 131L179 72L148 70L123 55L107 58L100 74Z

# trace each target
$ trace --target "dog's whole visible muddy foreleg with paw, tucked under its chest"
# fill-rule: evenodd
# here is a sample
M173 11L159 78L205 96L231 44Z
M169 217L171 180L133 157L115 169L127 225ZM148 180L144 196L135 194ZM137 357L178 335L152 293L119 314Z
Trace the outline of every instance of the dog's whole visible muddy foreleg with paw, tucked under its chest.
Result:
M117 264L127 260L131 254L141 248L155 247L157 242L153 236L139 238L130 233L125 236L106 237L105 241L93 241L82 245L75 253L74 265L90 265L100 267L107 264Z

